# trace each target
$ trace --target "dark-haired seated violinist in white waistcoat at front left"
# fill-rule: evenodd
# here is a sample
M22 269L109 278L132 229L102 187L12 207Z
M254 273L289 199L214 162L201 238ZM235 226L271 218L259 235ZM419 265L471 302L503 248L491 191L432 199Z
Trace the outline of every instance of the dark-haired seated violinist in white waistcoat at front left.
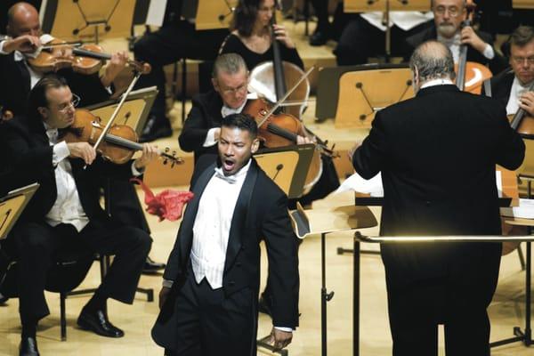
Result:
M49 314L44 287L57 251L73 247L115 255L77 325L101 336L121 337L124 332L108 320L106 301L133 303L150 250L147 232L116 223L101 209L99 178L127 180L142 174L156 158L156 147L145 144L141 158L114 165L97 157L86 142L61 141L59 131L73 123L75 104L66 81L47 75L29 93L28 114L5 122L0 133L5 161L14 172L10 187L40 184L8 238L18 259L20 355L38 355L36 327Z

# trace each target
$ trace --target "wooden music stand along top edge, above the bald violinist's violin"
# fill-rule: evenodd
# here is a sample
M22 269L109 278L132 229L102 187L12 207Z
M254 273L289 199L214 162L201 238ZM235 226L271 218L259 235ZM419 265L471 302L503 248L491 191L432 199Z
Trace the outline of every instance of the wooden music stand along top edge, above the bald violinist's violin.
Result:
M64 41L98 44L101 38L130 36L135 6L135 0L44 0L41 28Z

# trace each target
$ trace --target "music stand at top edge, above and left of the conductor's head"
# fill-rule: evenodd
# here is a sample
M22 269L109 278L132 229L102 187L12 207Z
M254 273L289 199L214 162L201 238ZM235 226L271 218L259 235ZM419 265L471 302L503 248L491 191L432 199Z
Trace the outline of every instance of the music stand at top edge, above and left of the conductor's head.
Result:
M430 0L345 0L344 12L383 12L382 24L385 26L385 61L389 62L392 53L391 11L430 10Z

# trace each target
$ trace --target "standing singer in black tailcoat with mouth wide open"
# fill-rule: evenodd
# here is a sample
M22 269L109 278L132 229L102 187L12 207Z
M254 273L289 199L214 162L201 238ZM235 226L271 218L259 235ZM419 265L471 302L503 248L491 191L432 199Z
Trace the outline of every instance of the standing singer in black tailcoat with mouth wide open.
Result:
M231 114L221 125L218 159L205 155L196 165L195 198L159 294L152 337L168 355L255 355L262 239L275 348L289 344L298 325L298 258L287 197L252 158L259 147L254 119Z

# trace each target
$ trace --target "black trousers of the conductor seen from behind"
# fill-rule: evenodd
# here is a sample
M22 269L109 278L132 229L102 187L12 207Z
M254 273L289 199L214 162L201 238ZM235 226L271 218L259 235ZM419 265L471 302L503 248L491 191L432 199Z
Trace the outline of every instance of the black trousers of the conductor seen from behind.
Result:
M399 263L413 261L409 256L399 263L384 261L393 356L437 356L439 324L447 356L490 355L487 308L497 287L501 248L488 245L458 247L444 258L449 263L441 276L408 283L391 277Z

